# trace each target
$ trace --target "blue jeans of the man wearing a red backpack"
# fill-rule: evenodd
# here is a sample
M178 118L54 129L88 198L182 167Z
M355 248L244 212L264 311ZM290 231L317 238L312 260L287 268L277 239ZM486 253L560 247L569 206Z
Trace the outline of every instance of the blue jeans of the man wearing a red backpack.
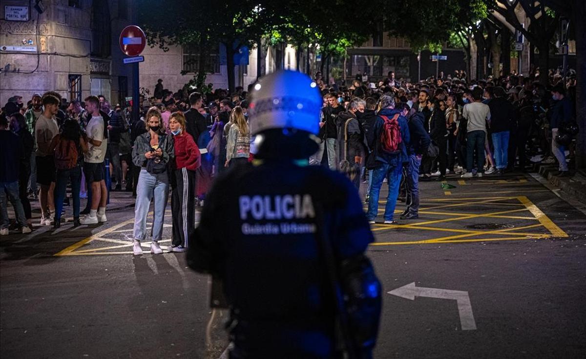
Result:
M376 219L379 214L379 194L384 178L387 178L387 185L389 185L389 195L387 195L387 204L384 208L384 220L393 220L402 174L403 167L401 165L383 164L373 170L372 186L369 192L368 220Z

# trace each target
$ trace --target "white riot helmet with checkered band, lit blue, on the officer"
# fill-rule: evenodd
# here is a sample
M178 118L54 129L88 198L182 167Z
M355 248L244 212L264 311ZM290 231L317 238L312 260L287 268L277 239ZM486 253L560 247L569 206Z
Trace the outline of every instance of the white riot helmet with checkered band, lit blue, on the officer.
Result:
M298 71L281 70L261 77L248 106L251 134L291 128L319 132L322 97L314 81Z

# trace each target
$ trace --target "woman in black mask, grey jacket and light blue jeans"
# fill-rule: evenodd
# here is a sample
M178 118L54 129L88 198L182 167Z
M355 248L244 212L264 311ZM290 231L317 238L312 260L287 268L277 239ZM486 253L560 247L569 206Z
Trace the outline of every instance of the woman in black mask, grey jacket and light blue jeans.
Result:
M168 163L175 157L173 139L161 129L161 113L153 108L147 112L146 118L148 132L137 137L132 149L132 162L141 168L132 233L132 250L137 256L142 254L141 241L147 237L147 216L152 200L155 212L151 229L151 253L163 253L159 240L163 234L165 208L169 198Z

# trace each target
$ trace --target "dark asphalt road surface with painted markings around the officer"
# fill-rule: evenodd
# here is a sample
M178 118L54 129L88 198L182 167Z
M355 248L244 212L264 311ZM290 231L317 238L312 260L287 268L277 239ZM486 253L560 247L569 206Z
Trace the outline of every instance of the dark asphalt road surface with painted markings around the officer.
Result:
M421 184L419 219L373 226L376 358L586 357L584 209L522 174L458 179ZM207 277L183 254L132 256L133 217L0 239L2 358L219 357Z

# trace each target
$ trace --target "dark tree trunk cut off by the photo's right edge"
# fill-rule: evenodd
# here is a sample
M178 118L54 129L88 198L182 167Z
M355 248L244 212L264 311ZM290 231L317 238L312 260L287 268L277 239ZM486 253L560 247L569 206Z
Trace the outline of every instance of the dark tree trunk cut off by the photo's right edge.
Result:
M574 26L576 29L576 120L578 146L576 148L576 168L586 168L586 2L573 0Z

